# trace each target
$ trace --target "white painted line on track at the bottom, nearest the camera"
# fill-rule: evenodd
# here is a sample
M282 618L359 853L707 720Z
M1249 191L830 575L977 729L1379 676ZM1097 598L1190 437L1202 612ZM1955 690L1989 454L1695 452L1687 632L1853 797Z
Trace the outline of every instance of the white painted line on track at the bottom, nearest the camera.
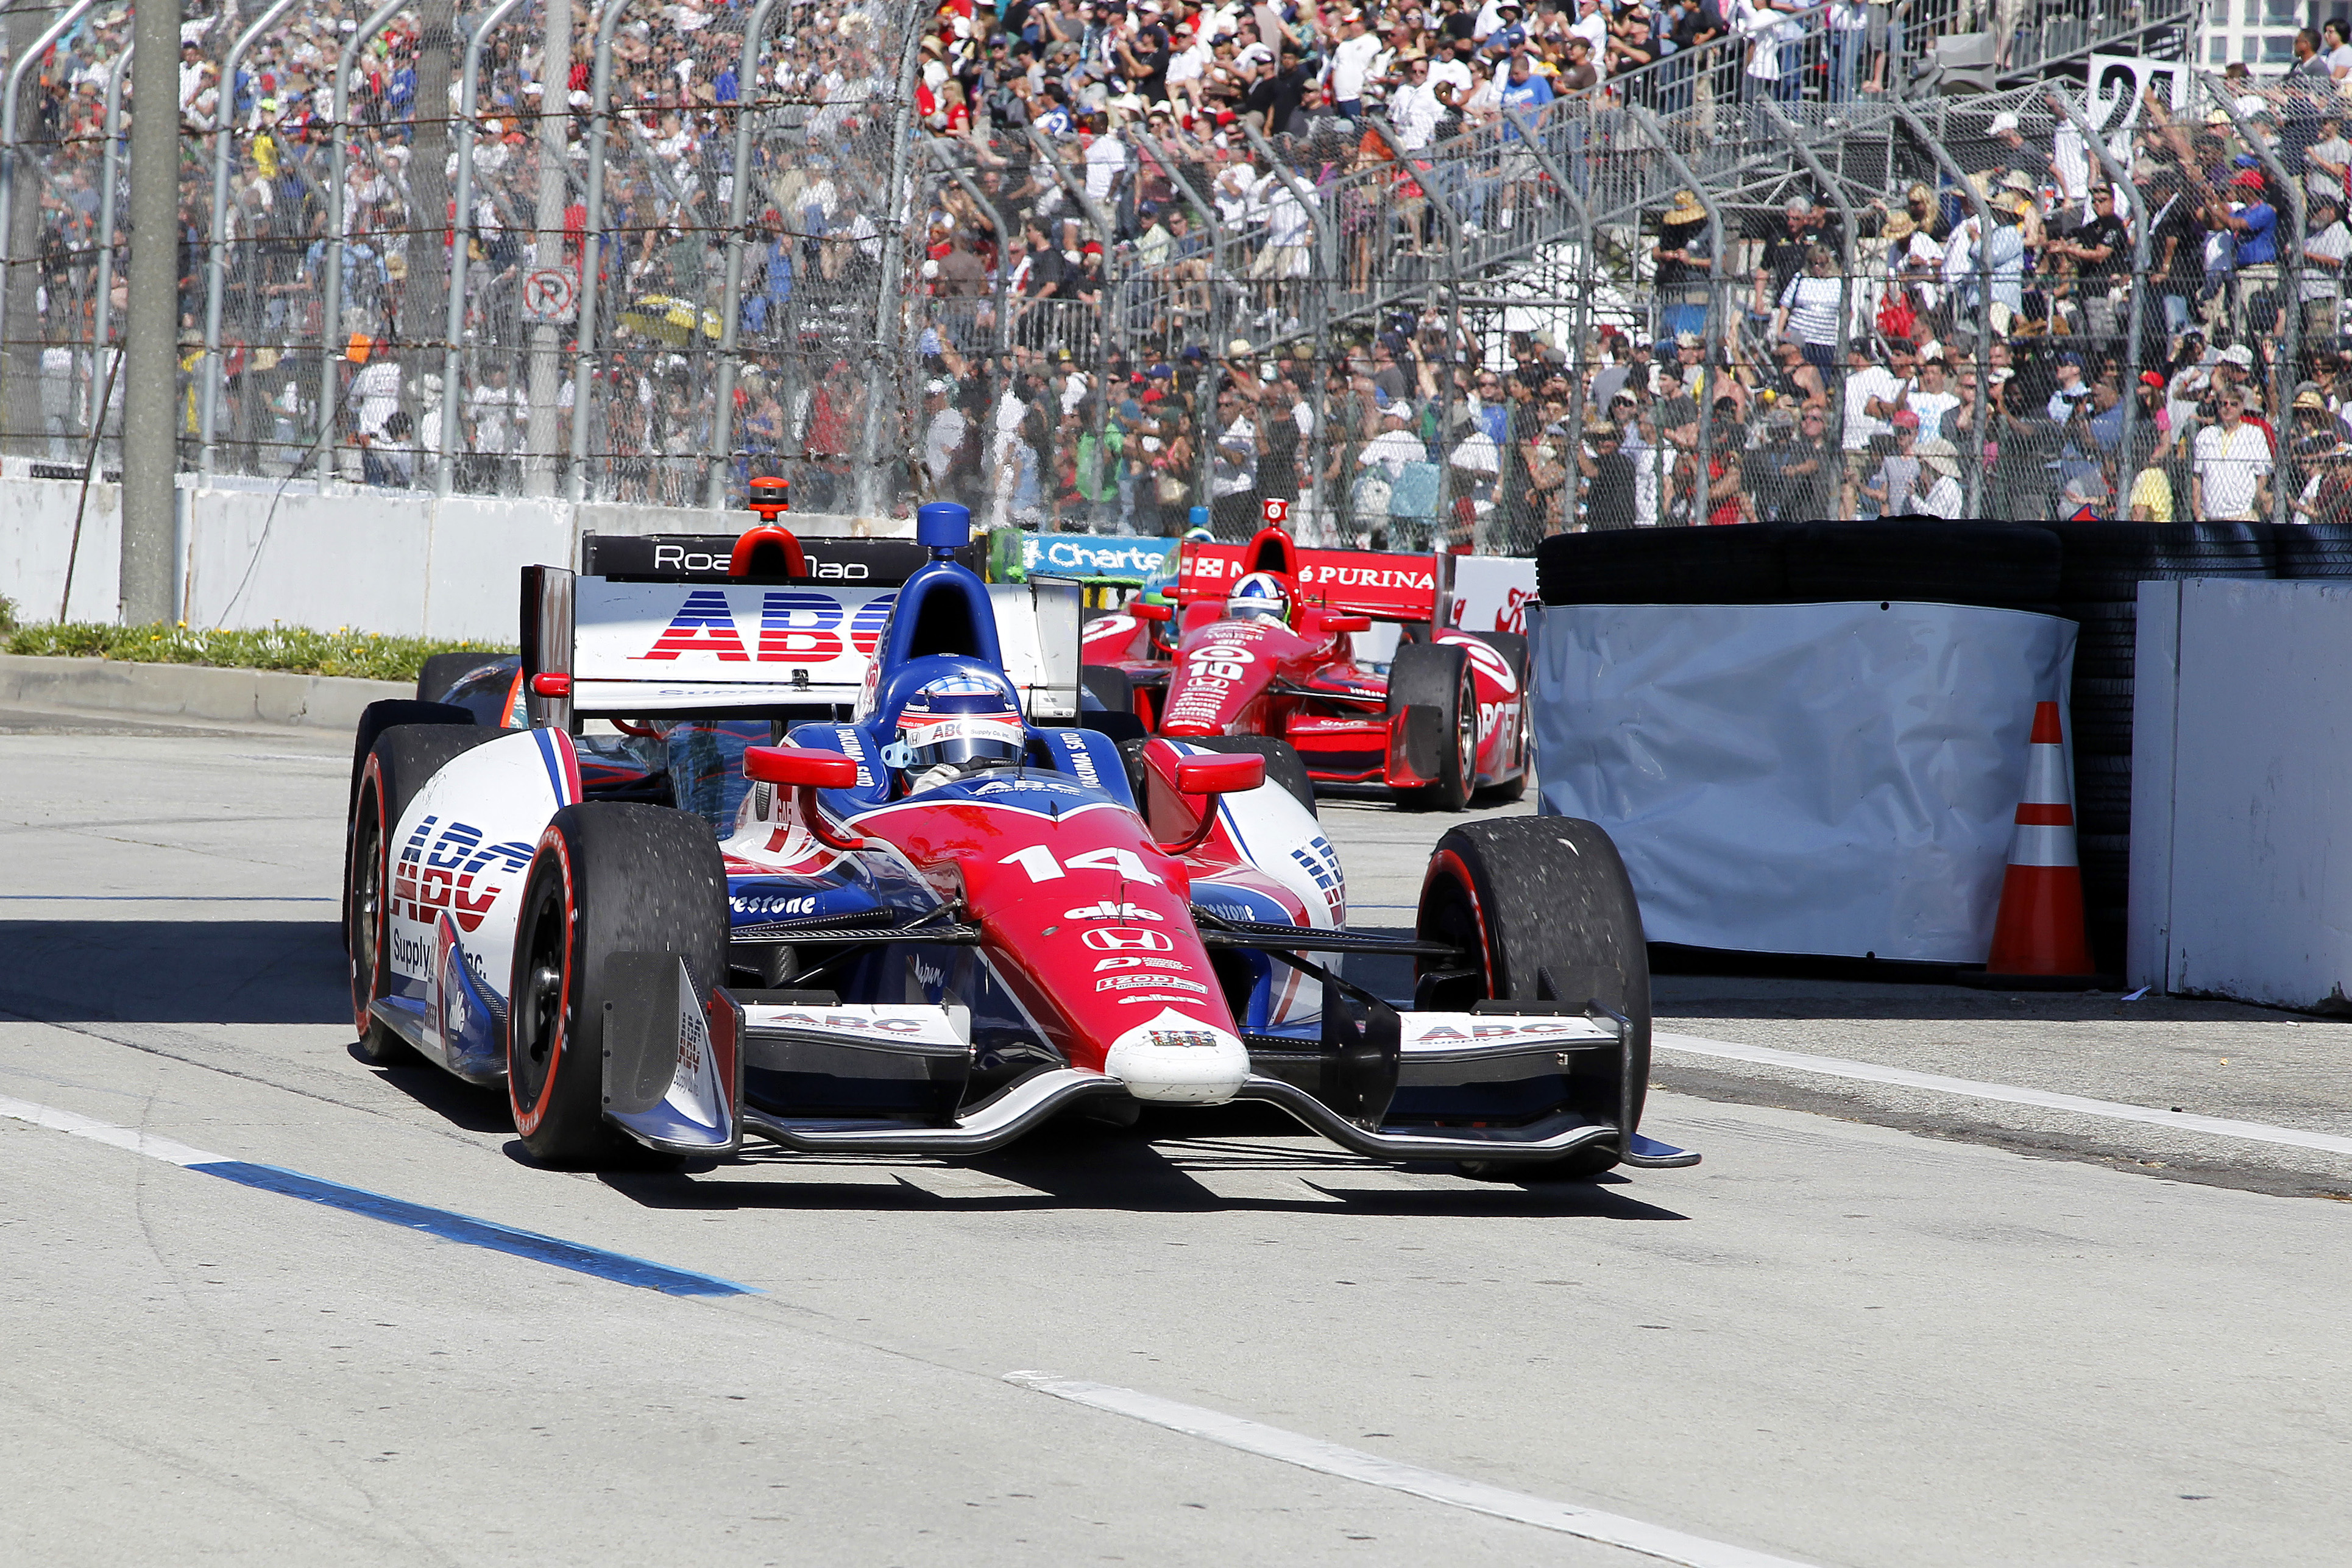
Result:
M1684 1563L1684 1568L1809 1568L1806 1563L1797 1563L1788 1556L1750 1552L1748 1547L1726 1547L1724 1542L1705 1540L1703 1535L1684 1535L1682 1530L1668 1530L1665 1526L1625 1519L1623 1514L1602 1514L1599 1509L1578 1507L1573 1502L1531 1497L1503 1486L1449 1476L1442 1469L1404 1465L1402 1460L1364 1453L1362 1448L1343 1448L1341 1443L1327 1443L1298 1432L1284 1432L1282 1427L1268 1427L1240 1415L1204 1410L1202 1406L1188 1406L1174 1399L1160 1399L1157 1394L1112 1387L1108 1382L1082 1382L1077 1378L1058 1378L1054 1373L1004 1373L1004 1382L1051 1394L1054 1399L1068 1399L1070 1403L1108 1410L1112 1415L1127 1415L1155 1427L1167 1427L1169 1432L1183 1432L1185 1436L1221 1443L1223 1448L1240 1448L1242 1453L1256 1453L1268 1460L1282 1460L1284 1465L1298 1465L1301 1469L1338 1476L1343 1481L1362 1481L1364 1486L1409 1493L1430 1502L1444 1502L1446 1507L1470 1509L1472 1514L1491 1514L1496 1519L1531 1523L1538 1530L1557 1530L1562 1535L1592 1540L1604 1547L1623 1547L1668 1563Z

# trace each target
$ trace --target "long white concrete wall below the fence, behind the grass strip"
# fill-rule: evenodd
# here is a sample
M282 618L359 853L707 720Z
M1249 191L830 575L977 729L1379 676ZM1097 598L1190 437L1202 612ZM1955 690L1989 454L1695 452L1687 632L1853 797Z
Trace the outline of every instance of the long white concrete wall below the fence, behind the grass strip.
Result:
M0 468L0 595L54 621L82 487ZM731 534L748 512L574 505L226 480L179 491L176 604L191 625L339 625L409 637L515 637L515 574L572 567L581 534ZM816 536L913 536L910 520L795 512ZM92 484L68 621L118 618L122 489Z

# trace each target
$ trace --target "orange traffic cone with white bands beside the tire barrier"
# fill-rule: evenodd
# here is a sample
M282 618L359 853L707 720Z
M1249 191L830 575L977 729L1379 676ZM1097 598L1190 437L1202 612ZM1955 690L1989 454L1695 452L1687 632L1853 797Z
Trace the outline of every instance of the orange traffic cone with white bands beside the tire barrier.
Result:
M2072 795L2058 703L2034 703L2034 729L2025 741L2025 799L2018 802L2018 832L2009 844L1985 983L2037 990L2089 990L2098 983L2082 922Z

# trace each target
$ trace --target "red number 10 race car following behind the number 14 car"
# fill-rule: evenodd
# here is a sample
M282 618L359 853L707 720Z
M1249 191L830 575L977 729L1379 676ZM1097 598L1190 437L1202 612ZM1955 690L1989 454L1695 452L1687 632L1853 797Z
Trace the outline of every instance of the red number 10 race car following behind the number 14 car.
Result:
M1275 522L1247 545L1185 541L1176 604L1087 623L1084 679L1162 736L1287 741L1315 783L1444 811L1472 792L1512 802L1529 771L1526 637L1446 628L1444 559L1301 550ZM1404 623L1385 663L1357 654L1374 618Z

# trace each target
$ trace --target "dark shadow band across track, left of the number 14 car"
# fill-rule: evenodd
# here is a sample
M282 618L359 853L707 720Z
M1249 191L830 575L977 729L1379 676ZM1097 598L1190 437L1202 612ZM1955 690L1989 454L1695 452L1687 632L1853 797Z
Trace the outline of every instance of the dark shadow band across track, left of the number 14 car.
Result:
M42 1023L350 1023L332 919L0 919L0 1009Z

